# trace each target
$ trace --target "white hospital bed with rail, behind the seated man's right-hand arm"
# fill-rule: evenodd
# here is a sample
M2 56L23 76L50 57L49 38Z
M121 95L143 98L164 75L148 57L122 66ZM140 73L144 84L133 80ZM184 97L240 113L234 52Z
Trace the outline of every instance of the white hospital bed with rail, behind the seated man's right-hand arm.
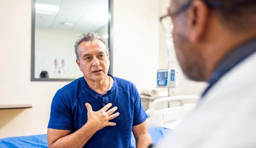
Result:
M155 99L146 111L148 127L164 127L175 129L183 119L195 108L198 96L173 96ZM158 105L167 104L168 107L161 108Z

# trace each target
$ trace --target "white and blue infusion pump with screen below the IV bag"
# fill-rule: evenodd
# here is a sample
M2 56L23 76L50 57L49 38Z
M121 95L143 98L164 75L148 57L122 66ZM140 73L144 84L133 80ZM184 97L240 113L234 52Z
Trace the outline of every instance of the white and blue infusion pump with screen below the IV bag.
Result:
M177 72L172 69L158 69L157 70L157 87L176 87Z

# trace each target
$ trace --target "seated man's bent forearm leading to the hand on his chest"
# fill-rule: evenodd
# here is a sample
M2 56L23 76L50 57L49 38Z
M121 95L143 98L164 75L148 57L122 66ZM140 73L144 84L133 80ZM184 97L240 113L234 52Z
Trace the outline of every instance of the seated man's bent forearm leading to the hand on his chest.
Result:
M49 148L82 148L95 133L95 127L90 123L86 123L76 132L52 143Z

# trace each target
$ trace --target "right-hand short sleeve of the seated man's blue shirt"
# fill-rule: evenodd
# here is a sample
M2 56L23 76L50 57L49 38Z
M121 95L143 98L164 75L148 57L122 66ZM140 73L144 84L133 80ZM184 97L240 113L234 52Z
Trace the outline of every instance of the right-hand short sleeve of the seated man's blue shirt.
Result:
M134 119L133 119L133 126L139 125L146 121L147 119L147 113L144 110L142 104L141 104L141 97L136 89L136 87L133 85L133 96L134 96Z

